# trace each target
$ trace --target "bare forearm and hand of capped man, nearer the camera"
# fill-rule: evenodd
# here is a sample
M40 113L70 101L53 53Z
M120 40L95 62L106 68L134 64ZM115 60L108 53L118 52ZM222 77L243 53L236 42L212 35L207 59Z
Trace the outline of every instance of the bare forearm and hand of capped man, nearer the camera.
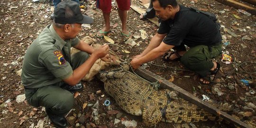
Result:
M91 51L91 48L85 50ZM106 56L109 53L109 50L110 47L108 45L103 45L99 48L94 49L90 57L82 65L76 68L71 76L69 76L67 79L64 79L63 81L68 83L69 85L76 85L90 71L92 65L96 62L96 60Z

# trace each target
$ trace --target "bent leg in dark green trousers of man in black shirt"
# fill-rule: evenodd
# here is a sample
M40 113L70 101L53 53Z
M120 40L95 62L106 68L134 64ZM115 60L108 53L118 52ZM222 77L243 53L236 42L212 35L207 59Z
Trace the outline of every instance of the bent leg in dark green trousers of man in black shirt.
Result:
M209 51L208 46L195 46L187 51L182 57L181 62L188 69L206 77L217 67L216 62L212 62L212 58L221 54L221 45L212 46L212 51ZM203 83L210 83L207 80L201 79Z

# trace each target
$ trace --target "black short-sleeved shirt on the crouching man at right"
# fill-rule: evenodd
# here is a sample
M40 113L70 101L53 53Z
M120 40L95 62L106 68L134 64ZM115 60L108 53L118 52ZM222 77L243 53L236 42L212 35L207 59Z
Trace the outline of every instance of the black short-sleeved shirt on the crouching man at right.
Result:
M163 42L167 45L180 46L210 46L221 41L221 35L216 23L204 14L179 5L180 10L174 19L161 20L158 34L167 36Z

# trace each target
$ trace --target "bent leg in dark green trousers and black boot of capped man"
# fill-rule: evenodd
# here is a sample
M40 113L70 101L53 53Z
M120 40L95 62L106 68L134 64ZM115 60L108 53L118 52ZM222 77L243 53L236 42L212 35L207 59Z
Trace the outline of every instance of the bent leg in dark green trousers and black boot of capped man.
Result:
M57 85L48 85L38 89L25 89L25 95L30 105L46 107L46 113L55 126L67 127L68 123L64 116L73 107L73 93Z

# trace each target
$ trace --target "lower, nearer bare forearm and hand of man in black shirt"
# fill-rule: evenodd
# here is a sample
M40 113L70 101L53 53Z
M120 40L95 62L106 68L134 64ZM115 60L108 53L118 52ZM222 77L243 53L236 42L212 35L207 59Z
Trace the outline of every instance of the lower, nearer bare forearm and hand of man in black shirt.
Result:
M134 69L137 69L141 64L155 60L159 56L164 55L166 51L173 47L174 46L166 45L164 42L162 42L159 46L149 51L146 55L140 58L133 58L130 64Z

